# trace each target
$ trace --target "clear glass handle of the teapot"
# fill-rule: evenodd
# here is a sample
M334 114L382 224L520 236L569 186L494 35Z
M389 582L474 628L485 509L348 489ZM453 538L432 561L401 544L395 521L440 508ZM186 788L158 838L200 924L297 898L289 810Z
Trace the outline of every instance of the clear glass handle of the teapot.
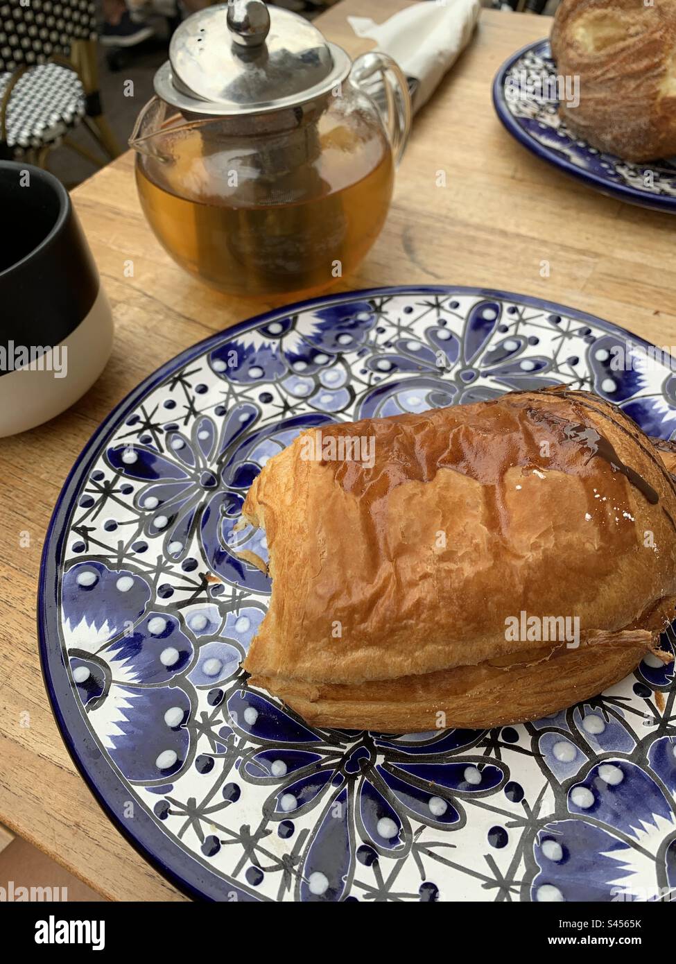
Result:
M355 60L350 80L377 107L392 145L394 164L398 165L409 139L412 117L411 94L401 67L380 50L371 50Z

